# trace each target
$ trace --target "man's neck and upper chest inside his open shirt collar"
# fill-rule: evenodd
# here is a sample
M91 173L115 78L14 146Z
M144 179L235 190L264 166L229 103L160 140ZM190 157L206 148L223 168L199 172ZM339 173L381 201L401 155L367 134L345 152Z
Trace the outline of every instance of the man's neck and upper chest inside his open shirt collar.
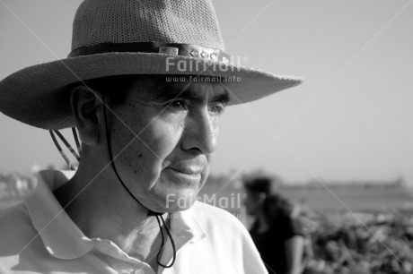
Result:
M148 210L129 196L110 171L93 179L90 169L83 170L79 168L54 192L68 216L84 235L110 240L130 256L156 267L161 245L156 218L148 216Z

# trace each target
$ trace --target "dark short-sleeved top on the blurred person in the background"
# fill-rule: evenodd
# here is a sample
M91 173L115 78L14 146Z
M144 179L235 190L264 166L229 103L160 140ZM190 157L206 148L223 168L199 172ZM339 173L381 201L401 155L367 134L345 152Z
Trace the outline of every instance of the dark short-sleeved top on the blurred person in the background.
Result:
M286 241L295 235L303 235L300 223L294 218L280 217L264 233L259 233L259 222L250 229L250 235L259 250L268 273L286 273Z

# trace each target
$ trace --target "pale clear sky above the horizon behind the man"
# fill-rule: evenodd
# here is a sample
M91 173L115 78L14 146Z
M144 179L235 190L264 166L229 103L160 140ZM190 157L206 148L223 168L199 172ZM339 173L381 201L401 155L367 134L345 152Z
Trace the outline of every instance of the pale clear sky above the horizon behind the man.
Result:
M213 2L229 54L304 79L227 108L213 173L413 185L412 0ZM0 79L65 58L80 3L0 0ZM0 126L0 171L63 165L47 131L3 114Z

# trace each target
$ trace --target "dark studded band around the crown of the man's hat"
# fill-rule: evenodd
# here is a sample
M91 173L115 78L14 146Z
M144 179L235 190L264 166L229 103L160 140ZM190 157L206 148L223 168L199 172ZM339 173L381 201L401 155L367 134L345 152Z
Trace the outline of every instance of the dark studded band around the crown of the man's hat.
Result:
M171 56L198 57L228 64L231 56L218 48L201 47L191 44L137 42L103 43L90 47L78 47L68 57L92 56L110 52L159 53Z

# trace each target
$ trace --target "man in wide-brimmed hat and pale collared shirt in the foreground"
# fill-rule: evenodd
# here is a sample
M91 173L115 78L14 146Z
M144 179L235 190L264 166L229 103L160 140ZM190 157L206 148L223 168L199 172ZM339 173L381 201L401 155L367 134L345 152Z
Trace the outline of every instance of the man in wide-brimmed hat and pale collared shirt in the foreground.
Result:
M230 59L207 0L84 1L68 58L0 82L5 115L82 141L76 172L40 172L1 214L0 272L267 273L242 224L196 197L224 107L300 81Z

